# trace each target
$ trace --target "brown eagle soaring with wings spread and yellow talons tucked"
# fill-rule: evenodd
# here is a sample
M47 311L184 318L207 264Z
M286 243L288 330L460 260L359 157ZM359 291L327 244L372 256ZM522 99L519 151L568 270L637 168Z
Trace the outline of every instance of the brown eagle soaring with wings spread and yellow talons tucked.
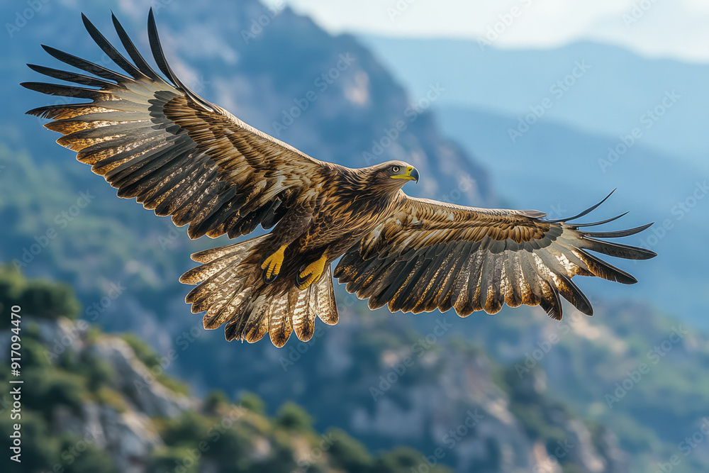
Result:
M155 64L145 61L116 16L113 26L130 60L82 14L84 26L121 72L49 46L88 74L28 65L68 82L25 82L33 91L85 99L34 108L46 128L118 189L158 216L189 225L189 238L238 238L257 226L272 230L233 245L197 252L201 263L180 277L196 285L185 301L206 329L225 325L227 340L253 343L267 333L282 347L295 332L313 336L316 317L338 321L333 277L369 308L392 312L497 313L503 304L541 306L562 318L560 296L593 315L571 281L596 276L623 284L627 272L593 255L630 260L654 252L607 238L635 235L547 219L540 211L475 208L407 196L418 170L407 162L350 169L316 160L247 125L189 89L162 50L152 9L147 33ZM62 99L65 100L65 99ZM612 194L612 193L611 193ZM608 197L606 197L608 199ZM331 264L340 258L335 271Z

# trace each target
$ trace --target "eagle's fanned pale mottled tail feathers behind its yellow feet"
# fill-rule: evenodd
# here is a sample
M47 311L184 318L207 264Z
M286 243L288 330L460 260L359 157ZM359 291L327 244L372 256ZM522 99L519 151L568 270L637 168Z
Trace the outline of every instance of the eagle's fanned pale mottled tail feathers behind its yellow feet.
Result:
M274 285L263 284L260 260L252 248L268 235L243 243L213 248L192 255L203 263L182 274L180 282L199 284L187 294L191 311L206 311L206 329L225 326L225 337L231 341L257 342L269 333L277 347L285 345L295 331L300 340L313 337L316 315L328 325L337 323L337 305L330 267L323 277L303 291L293 284L274 293Z

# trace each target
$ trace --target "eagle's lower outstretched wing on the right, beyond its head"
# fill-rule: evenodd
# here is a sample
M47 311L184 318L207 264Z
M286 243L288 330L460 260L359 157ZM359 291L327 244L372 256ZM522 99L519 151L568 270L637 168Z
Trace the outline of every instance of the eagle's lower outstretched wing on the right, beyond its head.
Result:
M541 305L562 318L559 294L579 311L593 314L591 303L571 282L576 274L632 284L634 277L588 251L644 260L655 253L610 243L649 225L613 232L579 228L603 222L545 220L539 211L496 210L414 199L401 192L391 216L342 257L334 276L347 291L369 299L370 308L419 313L455 308L459 316L503 306ZM608 199L608 197L606 197ZM625 214L623 214L625 215ZM652 224L650 224L652 225Z

